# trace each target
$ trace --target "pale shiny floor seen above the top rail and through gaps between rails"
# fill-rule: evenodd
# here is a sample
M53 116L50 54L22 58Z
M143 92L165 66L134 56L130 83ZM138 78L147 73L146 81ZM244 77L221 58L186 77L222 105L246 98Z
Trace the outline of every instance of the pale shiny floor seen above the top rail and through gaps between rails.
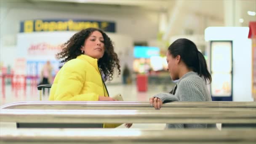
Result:
M169 85L168 88L166 85L149 85L147 92L138 92L136 85L122 85L107 84L107 88L110 96L115 96L116 94L121 94L124 101L148 101L150 97L154 96L159 92L168 92L174 85ZM1 87L2 88L2 87ZM46 92L47 93L47 92ZM15 101L39 101L39 92L37 88L27 86L26 91L24 88L14 88L12 90L10 85L5 86L5 95L3 91L0 91L0 105L8 104ZM47 101L48 96L43 96L43 101ZM135 123L131 128L143 128L143 129L164 129L165 124L139 124ZM15 123L0 123L0 129L16 129ZM120 125L118 128L125 128L124 125Z

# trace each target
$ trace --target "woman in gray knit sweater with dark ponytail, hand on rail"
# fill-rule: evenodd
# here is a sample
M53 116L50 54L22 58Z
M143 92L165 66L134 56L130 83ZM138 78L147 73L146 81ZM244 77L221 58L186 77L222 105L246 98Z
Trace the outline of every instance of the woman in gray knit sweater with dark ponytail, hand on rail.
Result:
M211 74L203 54L195 43L188 39L178 39L168 48L168 72L172 80L179 80L170 93L159 93L149 99L155 109L171 101L211 101L206 87L211 83ZM167 124L166 128L207 128L209 124Z

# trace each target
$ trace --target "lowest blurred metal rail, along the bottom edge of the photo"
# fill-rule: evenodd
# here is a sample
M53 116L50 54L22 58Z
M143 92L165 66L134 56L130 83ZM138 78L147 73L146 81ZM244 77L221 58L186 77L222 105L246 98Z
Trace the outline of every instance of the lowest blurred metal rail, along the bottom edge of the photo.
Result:
M1 144L255 144L256 129L17 129L0 133Z

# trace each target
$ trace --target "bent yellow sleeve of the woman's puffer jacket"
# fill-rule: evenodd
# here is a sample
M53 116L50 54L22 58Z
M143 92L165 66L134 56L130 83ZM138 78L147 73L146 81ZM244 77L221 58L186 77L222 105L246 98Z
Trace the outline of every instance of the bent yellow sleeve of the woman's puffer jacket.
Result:
M55 101L99 101L97 93L83 93L85 71L83 64L67 64L63 68L56 87Z

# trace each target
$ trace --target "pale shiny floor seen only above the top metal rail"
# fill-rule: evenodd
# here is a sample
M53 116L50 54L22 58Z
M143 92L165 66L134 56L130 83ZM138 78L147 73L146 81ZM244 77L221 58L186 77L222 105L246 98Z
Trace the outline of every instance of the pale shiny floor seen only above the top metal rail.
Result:
M138 92L136 85L123 85L123 84L107 84L107 89L110 96L121 94L124 101L148 101L150 97L159 92L168 92L173 85L148 85L147 92ZM5 86L5 94L3 94L2 86L0 86L0 105L8 104L16 101L39 101L39 92L35 86L27 86L26 91L24 88L11 88L10 85ZM47 95L45 91L45 95ZM47 101L48 96L43 96L43 101Z

